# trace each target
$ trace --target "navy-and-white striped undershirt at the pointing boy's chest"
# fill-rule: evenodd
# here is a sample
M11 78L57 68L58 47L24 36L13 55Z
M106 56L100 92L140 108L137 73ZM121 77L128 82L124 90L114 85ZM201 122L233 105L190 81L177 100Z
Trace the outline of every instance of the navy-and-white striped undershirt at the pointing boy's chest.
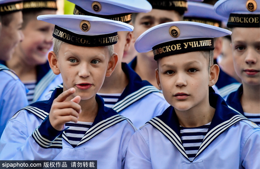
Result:
M66 127L69 127L65 130L65 134L73 148L79 144L91 125L92 122L69 122L65 124Z

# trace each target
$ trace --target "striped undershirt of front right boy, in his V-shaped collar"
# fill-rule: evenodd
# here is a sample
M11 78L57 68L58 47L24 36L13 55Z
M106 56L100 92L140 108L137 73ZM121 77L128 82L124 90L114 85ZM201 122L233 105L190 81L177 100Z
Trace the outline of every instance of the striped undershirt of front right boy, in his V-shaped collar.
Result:
M198 149L208 132L210 123L199 127L180 126L181 142L190 161L193 161L198 153Z

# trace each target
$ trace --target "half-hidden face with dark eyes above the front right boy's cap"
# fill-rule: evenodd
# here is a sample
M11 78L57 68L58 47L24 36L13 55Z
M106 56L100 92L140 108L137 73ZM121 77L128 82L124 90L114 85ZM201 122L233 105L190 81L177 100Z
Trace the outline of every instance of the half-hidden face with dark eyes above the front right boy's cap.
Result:
M138 13L133 24L135 27L133 31L134 37L138 38L142 33L153 26L166 22L181 21L181 19L182 16L174 10L152 9L151 12L148 13ZM153 60L152 51L145 54Z

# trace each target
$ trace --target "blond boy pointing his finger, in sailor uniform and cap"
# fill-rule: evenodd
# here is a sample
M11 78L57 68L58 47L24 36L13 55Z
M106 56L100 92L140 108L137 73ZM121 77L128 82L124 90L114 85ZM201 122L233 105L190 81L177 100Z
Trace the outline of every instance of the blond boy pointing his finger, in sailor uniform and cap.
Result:
M48 60L64 88L12 117L0 140L0 159L97 160L99 168L123 168L135 128L96 93L116 66L117 31L133 27L82 15L41 15L38 20L55 24Z

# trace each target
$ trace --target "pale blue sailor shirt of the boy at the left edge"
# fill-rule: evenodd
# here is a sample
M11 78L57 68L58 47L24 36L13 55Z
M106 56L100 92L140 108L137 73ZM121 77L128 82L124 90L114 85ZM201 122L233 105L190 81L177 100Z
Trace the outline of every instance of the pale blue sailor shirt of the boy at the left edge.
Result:
M28 105L26 89L8 67L0 64L0 137L5 125L20 109Z

